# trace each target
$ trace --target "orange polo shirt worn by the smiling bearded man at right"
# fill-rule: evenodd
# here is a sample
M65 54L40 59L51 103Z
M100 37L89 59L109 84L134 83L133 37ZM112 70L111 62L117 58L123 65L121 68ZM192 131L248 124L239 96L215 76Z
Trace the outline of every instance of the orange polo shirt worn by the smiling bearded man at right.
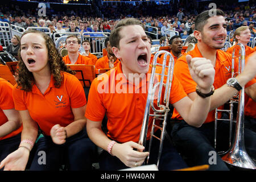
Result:
M192 57L203 57L197 47L197 44L195 48L192 51L188 52L189 55ZM216 64L215 64L215 76L214 76L214 83L213 86L215 89L220 88L222 85L226 84L226 81L231 76L231 65L232 65L232 55L230 53L226 53L221 50L217 50L216 53ZM238 70L238 59L236 59L236 65L234 67L235 72ZM187 94L196 92L196 82L193 81L189 69L187 60L185 58L185 55L181 56L179 59L177 59L175 67L174 67L174 73L179 78L181 84L183 85L183 88ZM245 87L250 86L254 84L256 81L255 79L248 82ZM224 106L218 107L218 109L223 109ZM205 120L205 123L214 121L214 114L215 110L212 110L209 112L207 119ZM221 117L221 112L218 112L218 117ZM176 109L174 109L174 113L172 114L172 118L175 119L182 119L180 114L177 112Z

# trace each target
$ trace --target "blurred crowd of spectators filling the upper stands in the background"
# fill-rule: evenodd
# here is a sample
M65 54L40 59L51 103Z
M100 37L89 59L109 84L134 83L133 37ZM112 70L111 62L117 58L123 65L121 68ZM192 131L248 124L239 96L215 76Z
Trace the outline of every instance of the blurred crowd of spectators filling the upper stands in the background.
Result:
M3 5L0 7L0 20L27 27L49 27L54 32L110 32L118 20L126 17L134 17L141 20L146 26L147 34L152 39L160 39L162 36L172 36L170 31L175 31L185 39L195 30L194 20L197 11L209 9L208 3L196 5L180 3L170 5L147 5L145 3L133 6L131 4L115 4L112 6L100 6L100 14L93 7L82 6L79 9L67 9L61 11L51 6L47 9L47 16L39 17L38 9L23 9L19 5ZM59 5L60 6L60 5ZM65 5L62 5L65 6ZM189 8L186 8L188 7ZM29 6L28 6L29 7ZM70 7L70 6L69 6ZM225 12L228 34L240 26L249 26L251 36L255 36L255 2L243 3L219 3L217 8ZM174 35L174 34L173 34Z

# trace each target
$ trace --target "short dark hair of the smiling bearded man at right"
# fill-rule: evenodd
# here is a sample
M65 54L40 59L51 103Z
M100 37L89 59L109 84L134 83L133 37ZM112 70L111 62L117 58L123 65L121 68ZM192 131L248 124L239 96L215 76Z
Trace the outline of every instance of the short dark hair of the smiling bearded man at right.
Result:
M203 31L204 25L207 24L207 20L212 17L210 11L216 11L217 16L225 16L222 10L206 10L196 16L195 19L195 30Z

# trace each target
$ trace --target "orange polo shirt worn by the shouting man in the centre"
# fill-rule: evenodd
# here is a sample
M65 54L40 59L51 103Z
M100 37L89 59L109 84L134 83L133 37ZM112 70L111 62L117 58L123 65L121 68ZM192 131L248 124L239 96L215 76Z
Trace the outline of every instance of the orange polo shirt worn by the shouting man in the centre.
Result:
M148 73L150 72L151 66ZM160 72L159 67L156 67L156 72ZM150 81L150 74L147 74L147 76L135 85L133 82L126 80L122 72L122 64L118 63L117 67L93 80L90 86L85 117L91 121L99 122L102 121L106 113L108 117L108 137L121 143L138 142ZM158 80L159 78L155 77L155 81ZM187 94L185 94L179 80L174 75L170 103L174 104L186 96ZM149 123L152 126L151 119ZM148 129L147 137L150 137L150 129Z

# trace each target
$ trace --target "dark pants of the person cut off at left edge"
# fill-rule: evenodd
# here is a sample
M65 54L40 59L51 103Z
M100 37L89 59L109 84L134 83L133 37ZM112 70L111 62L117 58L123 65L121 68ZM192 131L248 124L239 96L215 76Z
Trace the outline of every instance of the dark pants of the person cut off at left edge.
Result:
M11 154L15 150L18 149L20 144L20 134L15 135L14 137L6 138L0 140L0 162L7 157L7 155ZM2 171L0 169L0 171Z

